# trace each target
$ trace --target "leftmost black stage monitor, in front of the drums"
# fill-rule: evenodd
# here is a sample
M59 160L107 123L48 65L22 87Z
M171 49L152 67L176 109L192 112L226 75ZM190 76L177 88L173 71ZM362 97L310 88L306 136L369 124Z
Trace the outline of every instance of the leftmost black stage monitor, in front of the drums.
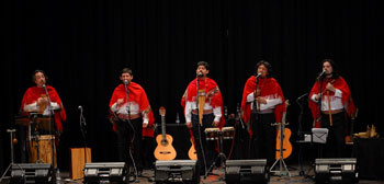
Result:
M50 163L13 163L11 165L11 184L54 183L54 170Z

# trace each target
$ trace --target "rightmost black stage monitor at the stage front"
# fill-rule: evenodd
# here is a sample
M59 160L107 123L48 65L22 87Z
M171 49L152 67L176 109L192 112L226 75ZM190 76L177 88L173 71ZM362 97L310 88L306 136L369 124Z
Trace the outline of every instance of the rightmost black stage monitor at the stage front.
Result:
M355 158L316 159L316 183L358 183Z

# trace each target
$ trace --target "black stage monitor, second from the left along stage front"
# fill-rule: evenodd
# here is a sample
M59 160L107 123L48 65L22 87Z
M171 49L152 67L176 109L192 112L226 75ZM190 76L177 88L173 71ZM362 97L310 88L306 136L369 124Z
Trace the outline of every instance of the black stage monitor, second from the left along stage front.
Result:
M83 183L128 183L125 162L86 163Z

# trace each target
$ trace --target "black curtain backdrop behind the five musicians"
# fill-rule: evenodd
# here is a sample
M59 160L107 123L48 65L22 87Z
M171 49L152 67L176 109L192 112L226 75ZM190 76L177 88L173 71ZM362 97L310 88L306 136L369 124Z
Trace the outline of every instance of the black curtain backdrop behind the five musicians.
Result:
M106 119L118 72L131 67L147 92L156 122L182 117L181 96L195 77L196 62L211 64L228 114L241 101L246 80L259 59L272 64L297 131L295 100L309 92L320 60L339 66L360 108L357 131L379 119L379 0L5 0L3 3L3 84L0 170L9 163L9 135L15 127L35 69L46 71L67 111L59 166L68 168L68 148L81 147L78 106L84 108L87 141L93 161L115 161L115 134ZM303 130L312 117L305 110ZM182 135L181 135L182 136ZM189 143L189 142L185 142Z

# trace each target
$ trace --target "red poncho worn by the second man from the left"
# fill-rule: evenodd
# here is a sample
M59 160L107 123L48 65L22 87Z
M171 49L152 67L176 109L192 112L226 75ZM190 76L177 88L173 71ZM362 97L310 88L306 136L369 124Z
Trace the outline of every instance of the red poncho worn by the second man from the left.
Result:
M147 94L145 93L144 89L135 82L131 82L127 85L128 89L128 99L129 102L135 102L138 104L139 106L139 113L143 114L143 112L145 114L147 114L148 116L148 126L146 128L143 128L143 136L146 137L154 137L154 123L155 123L155 117L154 117L154 113L150 108L149 105L149 101L147 97ZM125 93L125 87L124 84L120 84L115 88L115 90L113 91L111 101L110 101L110 108L112 107L112 105L114 103L116 103L116 101L118 99L124 99L124 103L126 103L126 93ZM117 127L115 124L113 124L113 130L116 131Z

